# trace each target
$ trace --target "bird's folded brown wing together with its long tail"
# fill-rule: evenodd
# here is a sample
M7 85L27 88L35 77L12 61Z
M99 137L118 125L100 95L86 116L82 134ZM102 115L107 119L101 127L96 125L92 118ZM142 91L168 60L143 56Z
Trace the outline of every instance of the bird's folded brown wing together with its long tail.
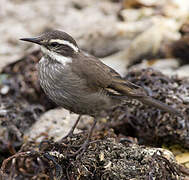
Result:
M102 63L99 59L90 55L83 55L82 53L79 59L80 61L77 61L78 65L74 66L73 70L81 78L87 80L89 87L93 89L103 88L113 96L137 99L144 104L182 116L176 109L149 97L142 87L122 79L116 71Z

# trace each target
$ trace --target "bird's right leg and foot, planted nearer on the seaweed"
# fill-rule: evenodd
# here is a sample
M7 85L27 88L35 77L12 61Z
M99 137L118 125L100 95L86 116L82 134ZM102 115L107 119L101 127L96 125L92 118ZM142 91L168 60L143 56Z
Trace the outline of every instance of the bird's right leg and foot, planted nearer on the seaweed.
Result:
M90 143L91 136L92 136L92 134L93 134L93 130L94 130L95 126L96 126L96 123L97 123L97 118L94 119L93 125L92 125L92 127L91 127L91 129L90 129L90 131L89 131L89 134L88 134L88 136L87 136L87 139L86 139L85 142L82 144L82 146L81 146L75 153L70 154L70 155L68 155L68 156L73 157L73 156L79 155L79 157L80 157L80 156L87 150L87 148L88 148L88 146L89 146L89 143Z

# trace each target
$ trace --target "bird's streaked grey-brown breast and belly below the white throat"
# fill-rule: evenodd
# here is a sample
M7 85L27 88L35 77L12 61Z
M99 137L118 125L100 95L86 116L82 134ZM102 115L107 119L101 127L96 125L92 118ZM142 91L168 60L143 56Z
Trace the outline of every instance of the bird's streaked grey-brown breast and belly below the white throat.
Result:
M110 98L91 90L84 79L69 69L60 71L40 67L40 84L47 96L59 106L78 114L94 115L110 105Z

